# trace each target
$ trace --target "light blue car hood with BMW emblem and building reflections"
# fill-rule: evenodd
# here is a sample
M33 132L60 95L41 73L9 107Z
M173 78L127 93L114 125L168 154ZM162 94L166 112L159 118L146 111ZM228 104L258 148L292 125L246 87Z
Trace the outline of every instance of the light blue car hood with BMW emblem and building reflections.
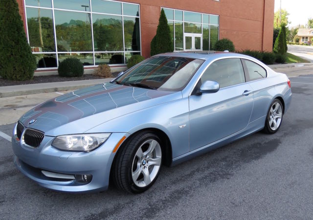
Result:
M47 136L84 133L121 115L178 98L181 92L99 84L39 104L20 121L25 127L45 132Z

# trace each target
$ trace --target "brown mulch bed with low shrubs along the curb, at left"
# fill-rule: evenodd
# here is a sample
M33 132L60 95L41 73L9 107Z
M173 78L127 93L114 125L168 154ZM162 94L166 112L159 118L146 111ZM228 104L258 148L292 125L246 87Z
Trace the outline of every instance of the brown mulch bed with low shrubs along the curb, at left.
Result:
M118 72L113 72L113 77L116 77ZM34 76L32 80L26 81L12 81L0 78L0 87L16 86L16 85L27 85L36 83L53 83L53 82L65 82L65 81L76 81L76 80L91 80L91 79L102 79L102 77L94 76L92 74L85 74L82 77L60 77L58 75L52 76Z

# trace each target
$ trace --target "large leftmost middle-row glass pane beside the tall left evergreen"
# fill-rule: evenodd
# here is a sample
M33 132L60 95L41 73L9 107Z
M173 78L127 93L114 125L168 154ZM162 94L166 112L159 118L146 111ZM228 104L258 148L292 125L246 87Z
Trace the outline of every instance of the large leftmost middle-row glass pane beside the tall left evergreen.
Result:
M29 44L33 52L55 51L52 10L26 8Z

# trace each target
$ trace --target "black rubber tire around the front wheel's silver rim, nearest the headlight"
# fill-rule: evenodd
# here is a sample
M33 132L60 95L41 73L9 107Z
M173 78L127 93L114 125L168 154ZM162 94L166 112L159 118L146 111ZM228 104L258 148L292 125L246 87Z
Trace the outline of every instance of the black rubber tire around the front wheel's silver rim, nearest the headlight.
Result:
M115 162L113 164L112 177L115 185L126 192L138 194L148 190L156 181L159 175L161 162L157 170L157 174L154 179L144 187L139 187L134 183L132 172L133 172L133 161L135 159L138 149L147 141L156 140L161 148L161 140L153 132L139 132L131 137L117 152ZM163 152L162 152L163 153ZM162 157L161 157L162 159ZM160 161L161 161L160 159ZM142 166L142 164L140 165ZM148 166L148 162L147 162ZM148 167L147 167L148 169ZM148 169L149 171L149 169Z

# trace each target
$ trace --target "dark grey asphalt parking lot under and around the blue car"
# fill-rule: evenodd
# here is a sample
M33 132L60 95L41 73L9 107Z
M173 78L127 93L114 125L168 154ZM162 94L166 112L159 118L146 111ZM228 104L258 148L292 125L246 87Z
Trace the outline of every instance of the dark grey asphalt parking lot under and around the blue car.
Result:
M279 132L162 167L140 195L42 188L15 168L11 143L0 137L0 219L313 219L313 66L276 71L288 73L293 93ZM9 136L12 129L0 126Z

